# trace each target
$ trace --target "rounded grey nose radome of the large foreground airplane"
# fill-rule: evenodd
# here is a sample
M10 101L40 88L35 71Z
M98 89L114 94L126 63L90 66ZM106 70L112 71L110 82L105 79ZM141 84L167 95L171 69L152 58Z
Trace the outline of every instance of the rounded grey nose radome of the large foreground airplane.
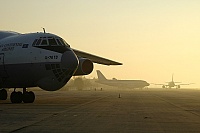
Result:
M73 51L65 51L61 57L61 66L65 69L75 70L79 60Z

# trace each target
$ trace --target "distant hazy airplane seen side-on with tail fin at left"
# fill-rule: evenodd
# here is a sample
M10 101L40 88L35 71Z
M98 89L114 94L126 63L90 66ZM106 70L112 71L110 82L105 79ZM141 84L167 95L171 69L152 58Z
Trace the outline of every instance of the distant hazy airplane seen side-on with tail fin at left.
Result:
M109 86L127 87L127 88L144 88L150 85L144 80L117 80L115 78L113 80L108 80L99 70L97 70L97 76L98 76L98 80L96 81L97 83L105 84Z

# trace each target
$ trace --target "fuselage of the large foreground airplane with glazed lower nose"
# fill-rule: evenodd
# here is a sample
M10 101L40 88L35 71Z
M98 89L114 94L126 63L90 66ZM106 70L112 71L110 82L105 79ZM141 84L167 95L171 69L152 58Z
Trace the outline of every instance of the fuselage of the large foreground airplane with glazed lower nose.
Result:
M73 50L57 35L13 33L0 37L0 88L58 90L78 64Z

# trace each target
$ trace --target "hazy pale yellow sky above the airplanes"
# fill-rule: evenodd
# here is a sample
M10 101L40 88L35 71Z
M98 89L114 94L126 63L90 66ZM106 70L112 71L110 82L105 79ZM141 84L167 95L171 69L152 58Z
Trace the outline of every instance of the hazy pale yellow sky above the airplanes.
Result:
M123 63L109 79L200 87L200 0L0 0L1 30L57 34L72 48ZM189 87L189 86L188 86Z

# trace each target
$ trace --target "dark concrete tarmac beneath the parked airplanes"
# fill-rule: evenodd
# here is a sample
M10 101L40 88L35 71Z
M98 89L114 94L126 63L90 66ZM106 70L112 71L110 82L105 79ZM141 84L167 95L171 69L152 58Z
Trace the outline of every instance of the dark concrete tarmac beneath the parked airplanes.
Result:
M199 133L200 90L35 91L0 101L0 133Z

